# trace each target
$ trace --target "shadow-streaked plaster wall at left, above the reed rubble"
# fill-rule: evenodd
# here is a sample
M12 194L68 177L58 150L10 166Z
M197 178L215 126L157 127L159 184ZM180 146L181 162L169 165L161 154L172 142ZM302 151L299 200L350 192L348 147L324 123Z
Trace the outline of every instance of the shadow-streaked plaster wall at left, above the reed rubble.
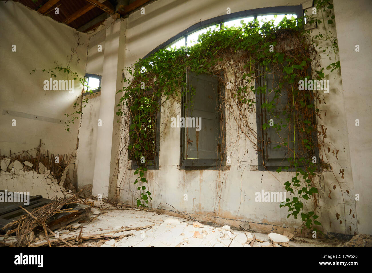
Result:
M0 2L0 150L1 154L35 148L40 139L52 153L72 153L76 148L79 123L64 130L65 113L76 111L73 103L81 91L78 80L75 92L44 91L49 74L33 69L55 67L54 61L84 75L87 60L88 35L55 22L47 16L14 1ZM71 58L71 50L76 47ZM12 45L16 52L12 52ZM69 62L70 61L70 62ZM58 74L57 80L67 79ZM3 115L3 109L35 116L60 119L60 124L37 119ZM16 126L12 126L12 119Z

